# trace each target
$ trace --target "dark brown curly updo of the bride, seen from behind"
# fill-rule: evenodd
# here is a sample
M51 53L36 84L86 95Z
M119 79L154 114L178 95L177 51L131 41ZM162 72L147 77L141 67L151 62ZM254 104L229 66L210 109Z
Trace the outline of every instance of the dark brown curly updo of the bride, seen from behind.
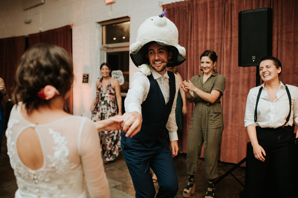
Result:
M50 100L38 97L46 85L54 86L65 97L74 79L72 59L61 47L37 44L28 49L20 59L15 75L13 100L25 104L28 113Z

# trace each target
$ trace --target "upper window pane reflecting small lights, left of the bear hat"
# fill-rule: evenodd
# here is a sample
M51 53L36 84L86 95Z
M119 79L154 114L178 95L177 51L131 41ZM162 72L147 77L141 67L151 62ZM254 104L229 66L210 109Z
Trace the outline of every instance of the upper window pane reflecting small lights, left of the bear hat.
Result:
M130 21L105 26L105 44L129 42Z

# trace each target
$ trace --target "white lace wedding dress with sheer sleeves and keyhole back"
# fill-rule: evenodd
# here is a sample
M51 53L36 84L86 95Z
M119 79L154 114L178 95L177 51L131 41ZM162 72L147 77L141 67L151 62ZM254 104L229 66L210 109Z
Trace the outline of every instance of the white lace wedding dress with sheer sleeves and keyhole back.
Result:
M20 107L11 110L6 130L7 154L18 184L15 197L85 198L84 177L91 197L110 197L94 123L69 116L35 125L21 116ZM19 135L28 127L35 129L44 156L38 170L26 167L16 148Z

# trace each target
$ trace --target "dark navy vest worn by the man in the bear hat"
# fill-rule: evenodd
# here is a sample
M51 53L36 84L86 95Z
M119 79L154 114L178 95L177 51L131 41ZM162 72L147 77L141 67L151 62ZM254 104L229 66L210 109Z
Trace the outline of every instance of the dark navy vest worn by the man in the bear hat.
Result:
M152 75L147 76L150 81L150 89L142 107L142 127L140 132L134 135L147 148L152 148L156 141L163 142L166 134L166 124L172 111L176 93L175 75L168 71L170 85L170 99L165 104L164 96L156 80Z

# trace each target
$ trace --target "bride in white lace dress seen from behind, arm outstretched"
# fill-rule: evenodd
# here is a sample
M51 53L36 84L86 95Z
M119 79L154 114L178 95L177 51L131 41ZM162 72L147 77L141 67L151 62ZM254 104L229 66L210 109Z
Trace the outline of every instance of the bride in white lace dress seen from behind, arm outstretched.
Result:
M72 90L72 60L65 50L38 44L21 57L7 150L18 190L15 197L110 197L98 132L121 128L116 116L96 125L63 111Z

